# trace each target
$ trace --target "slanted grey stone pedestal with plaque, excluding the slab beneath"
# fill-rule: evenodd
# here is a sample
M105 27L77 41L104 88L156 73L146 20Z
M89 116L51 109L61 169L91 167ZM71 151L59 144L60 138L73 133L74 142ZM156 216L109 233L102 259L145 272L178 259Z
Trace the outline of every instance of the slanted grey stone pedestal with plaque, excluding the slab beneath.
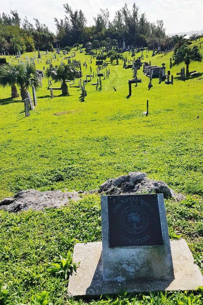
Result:
M101 216L104 281L174 278L163 194L101 196Z

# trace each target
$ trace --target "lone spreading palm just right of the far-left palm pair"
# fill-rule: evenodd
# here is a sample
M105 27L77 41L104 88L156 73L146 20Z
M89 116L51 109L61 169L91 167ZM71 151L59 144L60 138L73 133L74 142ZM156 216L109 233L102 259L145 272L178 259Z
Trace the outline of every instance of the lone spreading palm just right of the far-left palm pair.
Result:
M65 81L72 81L75 77L79 77L79 71L69 65L63 65L58 66L57 68L47 68L44 75L47 78L52 77L55 82L61 81L62 79L63 83L61 85L61 90L62 94L66 95L68 94L68 86Z

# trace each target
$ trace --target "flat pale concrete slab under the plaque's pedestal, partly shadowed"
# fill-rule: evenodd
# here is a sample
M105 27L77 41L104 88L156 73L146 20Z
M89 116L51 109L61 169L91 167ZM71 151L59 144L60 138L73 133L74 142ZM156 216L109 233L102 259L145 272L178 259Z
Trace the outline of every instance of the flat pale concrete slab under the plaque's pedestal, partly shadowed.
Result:
M138 280L129 282L104 282L102 275L102 242L77 243L73 261L80 263L77 274L68 283L68 297L93 299L101 294L118 293L122 288L129 292L194 290L203 285L203 276L194 264L192 253L184 239L170 241L174 280Z

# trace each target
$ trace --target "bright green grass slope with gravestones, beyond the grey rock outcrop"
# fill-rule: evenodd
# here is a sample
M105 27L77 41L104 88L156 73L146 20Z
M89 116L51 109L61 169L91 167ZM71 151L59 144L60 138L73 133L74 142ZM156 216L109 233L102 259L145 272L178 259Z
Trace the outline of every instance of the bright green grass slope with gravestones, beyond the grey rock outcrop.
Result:
M87 62L87 72L82 66L86 79L90 56L79 50L76 54L74 59ZM151 57L149 51L149 59L146 51L143 54L144 61L151 60L152 65L166 63L174 84L152 79L153 87L148 90L149 78L141 67L138 77L142 83L132 84L133 95L128 99L131 69L123 69L121 60L118 66L109 62L110 78L102 77L101 91L89 82L85 102L80 102L78 88L70 88L70 96L54 91L51 99L44 79L37 91L37 106L27 118L21 98L11 99L10 88L0 88L1 198L29 188L93 189L109 178L137 170L165 181L176 191L201 193L203 62L190 64L190 71L198 71L198 76L180 81L176 73L184 64L169 68L173 52ZM128 52L124 55L130 58ZM25 54L21 58L25 62ZM36 68L47 67L47 58L43 56L40 64L35 61ZM94 72L95 60L90 64ZM147 99L149 116L145 117Z

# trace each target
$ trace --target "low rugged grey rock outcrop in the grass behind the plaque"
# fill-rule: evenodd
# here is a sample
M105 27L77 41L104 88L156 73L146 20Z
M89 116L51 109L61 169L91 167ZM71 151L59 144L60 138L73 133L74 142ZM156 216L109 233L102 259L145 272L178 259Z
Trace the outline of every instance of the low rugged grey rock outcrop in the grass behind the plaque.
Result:
M86 192L61 192L37 190L26 190L18 192L14 197L5 198L0 201L0 210L9 212L20 212L28 210L40 211L44 208L60 208L68 205L70 200L78 201L81 199L81 193L93 194L98 192L103 195L119 194L142 194L142 193L162 193L165 198L174 198L177 201L185 199L182 194L176 194L173 189L163 181L157 181L147 178L147 174L142 172L131 172L115 179L109 179L100 185L99 189Z

